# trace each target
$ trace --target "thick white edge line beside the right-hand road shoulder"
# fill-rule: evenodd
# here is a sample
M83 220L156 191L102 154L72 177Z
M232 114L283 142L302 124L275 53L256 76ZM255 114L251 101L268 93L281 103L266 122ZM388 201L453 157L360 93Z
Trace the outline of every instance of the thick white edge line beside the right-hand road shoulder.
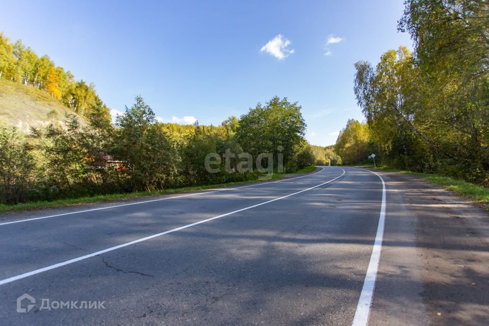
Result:
M367 274L363 282L362 292L358 300L357 311L353 318L352 326L366 326L368 323L368 315L370 314L370 306L372 304L373 291L375 289L375 280L377 278L378 263L381 259L382 240L384 238L384 225L386 222L386 183L382 177L369 170L359 169L371 172L382 181L382 204L381 213L378 218L377 233L375 235L375 241L373 243L372 255L370 256L370 262L367 267Z

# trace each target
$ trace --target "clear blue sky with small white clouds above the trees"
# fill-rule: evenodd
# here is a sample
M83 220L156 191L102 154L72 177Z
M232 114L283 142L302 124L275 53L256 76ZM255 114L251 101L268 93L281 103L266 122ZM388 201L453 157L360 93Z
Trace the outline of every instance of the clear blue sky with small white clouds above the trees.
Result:
M363 120L354 63L412 44L396 31L402 0L0 0L0 8L1 32L93 82L116 111L141 94L162 121L218 125L286 96L302 105L316 145L334 144L349 118Z

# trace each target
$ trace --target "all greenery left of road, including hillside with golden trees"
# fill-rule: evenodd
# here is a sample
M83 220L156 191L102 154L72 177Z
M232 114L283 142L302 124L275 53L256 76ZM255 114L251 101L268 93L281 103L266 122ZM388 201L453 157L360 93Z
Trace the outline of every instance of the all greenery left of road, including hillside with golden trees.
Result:
M182 126L159 123L152 108L136 96L113 125L93 84L76 81L49 57L3 34L0 80L2 98L25 98L29 103L0 103L6 118L6 125L0 126L1 210L14 207L8 205L47 207L46 202L92 202L258 181L315 161L304 139L301 106L287 98L258 103L220 126ZM27 117L46 123L36 125ZM30 130L12 127L16 121L27 122ZM214 173L205 168L209 153L223 158L214 164ZM245 159L245 169L238 169L239 164L243 167L240 153L252 157ZM261 153L272 155L261 160L266 172L257 169Z

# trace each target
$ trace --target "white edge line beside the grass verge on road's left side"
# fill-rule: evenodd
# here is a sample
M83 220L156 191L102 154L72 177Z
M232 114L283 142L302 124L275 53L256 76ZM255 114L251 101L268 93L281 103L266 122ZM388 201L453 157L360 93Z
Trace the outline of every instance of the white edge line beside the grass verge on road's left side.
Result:
M71 214L92 212L92 211L95 211L95 210L110 209L110 208L116 208L116 207L122 207L122 206L130 206L130 205L138 205L138 204L146 204L146 203L158 202L158 201L168 200L168 199L176 199L176 198L183 198L183 197L191 197L191 196L205 195L205 194L211 194L211 193L217 193L217 192L224 192L224 191L229 191L229 190L234 190L234 189L241 189L241 188L247 188L247 187L256 187L256 186L264 185L264 184L268 184L268 183L277 183L277 182L282 182L282 181L287 181L287 180L292 180L292 179L300 179L300 178L309 177L311 175L314 175L314 174L317 174L317 173L320 173L320 172L324 171L324 168L321 168L321 169L322 169L321 171L310 173L310 174L306 174L306 175L303 175L303 176L300 176L300 177L286 178L286 179L281 179L281 180L277 180L277 181L260 182L260 183L256 183L256 184L243 185L243 186L233 187L233 188L223 188L223 189L217 189L217 190L212 190L212 191L208 191L208 192L192 193L192 194L187 194L187 195L179 195L179 196L165 197L165 198L159 198L159 199L145 200L145 201L142 201L142 202L135 202L135 203L129 203L129 204L121 204L121 205L113 205L113 206L107 206L107 207L99 207L99 208L78 210L78 211L74 211L74 212L68 212L68 213L62 213L62 214L56 214L56 215L41 216L39 218L16 220L16 221L10 221L10 222L0 223L0 226L7 225L7 224L14 224L14 223L35 221L35 220L43 220L43 219L48 219L48 218L56 218L57 216L64 216L64 215L71 215Z

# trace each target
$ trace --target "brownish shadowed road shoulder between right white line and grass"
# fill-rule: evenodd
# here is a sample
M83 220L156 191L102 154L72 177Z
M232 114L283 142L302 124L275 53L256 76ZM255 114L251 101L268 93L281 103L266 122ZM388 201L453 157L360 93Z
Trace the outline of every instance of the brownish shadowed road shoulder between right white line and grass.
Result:
M485 324L488 213L420 178L379 174L387 220L370 324Z

